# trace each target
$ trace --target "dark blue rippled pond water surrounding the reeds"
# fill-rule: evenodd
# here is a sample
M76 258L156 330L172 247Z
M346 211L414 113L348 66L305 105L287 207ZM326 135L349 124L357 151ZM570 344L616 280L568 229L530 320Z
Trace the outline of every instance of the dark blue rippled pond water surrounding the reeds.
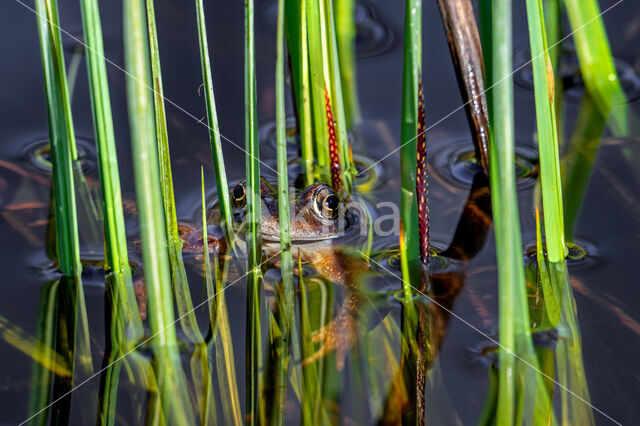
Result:
M274 58L275 28L274 2L256 2L256 52L258 68L258 106L263 161L275 168L275 149L271 135L274 120ZM524 5L514 4L514 66L528 54L526 15ZM358 88L363 122L353 131L354 154L361 169L385 157L398 147L400 91L402 72L401 2L362 2L358 7L361 19L358 28ZM602 8L609 6L601 2ZM185 222L198 218L200 205L199 165L205 167L209 201L215 188L207 129L197 120L204 117L203 98L198 94L201 82L195 11L191 4L177 2L157 5L160 53L162 57L165 92L181 111L168 106L167 119L171 144L174 184L178 214ZM122 66L122 11L118 3L101 5L105 28L107 57ZM458 108L461 99L454 70L444 37L440 15L435 2L424 5L424 90L427 121L433 123ZM61 2L61 22L74 36L81 34L77 5ZM48 203L50 198L50 167L42 141L47 139L46 106L42 70L36 33L35 16L14 1L3 2L0 16L0 52L6 58L0 68L0 244L2 285L0 286L0 315L26 333L35 334L38 304L45 283L56 279L55 266L45 252ZM214 86L219 108L221 132L239 146L243 139L243 10L241 2L217 3L207 9L210 48L213 60ZM640 84L640 9L633 2L623 2L604 17L616 64L624 86L632 101L631 109L640 113L638 88ZM68 61L77 52L76 42L65 39ZM571 52L569 42L565 50ZM524 53L523 53L524 52ZM95 149L90 104L87 92L85 64L82 61L73 96L74 122L78 143L84 158L83 168L90 182L97 181ZM573 68L572 68L573 67ZM565 140L569 139L582 96L581 82L575 77L575 58L569 57L565 68L566 80L572 82L565 104ZM128 211L127 232L132 240L137 234L135 220L135 192L130 159L129 129L125 101L124 77L120 70L108 68L111 99L118 141L123 197ZM517 152L522 154L518 165L518 194L523 233L523 252L535 245L535 216L533 214L534 183L538 177L533 92L527 69L517 73L516 140ZM565 75L565 74L563 74ZM383 82L383 83L382 83ZM293 110L291 104L289 112ZM472 151L463 109L431 129L427 135L430 150L430 201L432 236L437 248L446 248L453 237L464 200L471 187L475 165L468 159ZM602 137L593 173L586 189L575 227L576 242L585 255L569 262L571 282L577 303L582 333L583 356L594 406L623 424L640 418L635 401L640 396L640 305L637 300L637 271L635 262L640 256L640 176L637 164L640 155L640 132L633 128L631 137L613 138L607 132ZM229 181L243 178L244 155L230 143L223 142ZM290 151L295 155L295 149ZM369 205L381 201L399 201L399 153L396 152L369 171L377 178L371 180L372 190L363 195ZM273 172L263 168L265 176ZM382 208L377 215L388 214ZM196 222L197 223L197 222ZM138 267L140 255L132 243L132 262ZM374 250L397 246L397 237L377 237ZM89 266L101 258L99 246L83 249L84 285L94 366L99 368L105 344L105 296L100 270ZM199 260L186 256L194 304L202 301L200 281L197 279ZM391 262L391 267L396 267ZM442 268L455 269L455 264ZM393 269L396 271L397 269ZM483 249L466 267L465 284L455 301L454 312L483 333L496 337L497 282L495 247L490 234ZM392 294L399 289L398 280L387 275L376 282L376 289ZM339 291L339 290L336 290ZM226 291L231 312L237 375L241 400L244 400L244 282ZM385 293L386 294L386 293ZM380 315L398 314L394 297L386 300ZM198 311L205 324L204 311ZM370 327L375 326L371 324ZM204 329L204 326L203 326ZM437 399L427 406L432 423L449 424L449 410L455 410L464 424L474 424L484 405L487 390L487 365L495 356L489 340L463 322L452 318L441 348L437 373ZM23 353L0 340L0 424L15 424L28 416L29 387L33 362ZM348 381L347 381L348 382ZM96 392L99 378L83 386L85 394ZM348 385L347 385L348 386ZM144 401L140 389L128 389L132 398ZM288 393L292 395L291 390ZM357 412L357 404L349 391L342 394L343 414ZM134 399L135 400L135 399ZM79 399L72 402L72 423L83 421L85 407ZM131 415L131 405L120 404L123 415ZM372 409L375 411L376 407ZM379 408L379 407L378 407ZM297 408L287 414L297 417ZM357 414L357 413L356 413ZM355 415L355 414L354 414ZM609 423L596 414L598 424ZM294 420L295 422L295 420ZM123 420L123 423L127 421Z

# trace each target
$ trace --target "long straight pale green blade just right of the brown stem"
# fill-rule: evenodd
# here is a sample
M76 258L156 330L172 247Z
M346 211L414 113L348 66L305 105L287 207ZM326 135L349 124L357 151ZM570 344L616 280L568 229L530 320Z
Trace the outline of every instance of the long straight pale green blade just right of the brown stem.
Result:
M511 73L511 1L492 3L493 75L492 81L500 81ZM491 86L490 86L491 87ZM497 424L517 422L516 362L510 352L516 351L516 332L528 327L518 315L515 305L524 297L524 271L521 270L520 223L517 217L515 179L513 177L513 88L507 77L494 87L491 115L493 126L490 147L490 181L495 223L496 251L498 257L500 344L499 352ZM517 253L517 256L516 256Z

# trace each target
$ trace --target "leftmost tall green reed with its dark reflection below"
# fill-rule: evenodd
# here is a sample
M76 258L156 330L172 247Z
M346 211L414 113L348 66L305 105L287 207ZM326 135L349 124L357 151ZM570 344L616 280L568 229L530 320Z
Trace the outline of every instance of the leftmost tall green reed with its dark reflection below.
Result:
M83 380L93 373L93 363L89 344L87 312L81 281L78 214L76 211L76 190L82 189L82 182L76 185L74 176L79 167L73 130L73 118L67 74L64 64L62 40L55 0L36 1L40 53L44 71L47 113L49 121L49 144L53 164L53 193L56 223L58 267L64 274L61 279L60 330L56 336L58 351L64 352L71 366L69 379L56 377L53 384L53 398L66 393L73 386L74 378ZM78 368L76 368L78 366ZM59 380L58 380L59 379ZM95 395L87 393L78 397L90 407L97 404ZM69 416L70 398L54 407L52 416L61 416L61 421ZM83 420L89 421L91 411L83 413ZM93 419L91 419L93 420Z

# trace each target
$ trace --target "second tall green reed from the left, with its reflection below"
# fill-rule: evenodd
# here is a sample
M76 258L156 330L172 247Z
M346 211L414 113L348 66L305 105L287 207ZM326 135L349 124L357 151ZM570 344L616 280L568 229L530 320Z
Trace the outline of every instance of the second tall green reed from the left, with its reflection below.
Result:
M104 217L106 284L110 291L111 341L109 356L105 363L130 350L142 336L142 321L133 292L131 268L127 253L127 237L122 211L120 176L115 147L111 101L104 60L102 26L98 3L95 0L81 0L82 22L87 43L87 73L91 93L94 133L98 152L100 186ZM101 380L100 409L98 422L115 423L117 390L120 363L105 372Z

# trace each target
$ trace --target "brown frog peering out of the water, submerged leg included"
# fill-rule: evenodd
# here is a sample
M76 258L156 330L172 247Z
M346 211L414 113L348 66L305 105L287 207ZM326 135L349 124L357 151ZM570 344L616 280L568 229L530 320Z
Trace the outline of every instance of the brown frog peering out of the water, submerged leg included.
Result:
M278 190L267 179L260 179L262 249L266 259L280 256L280 219L278 214ZM357 288L359 274L365 273L368 264L354 261L344 255L346 241L353 245L353 237L366 237L367 215L364 205L351 199L342 200L331 185L314 183L300 192L294 192L290 211L291 252L317 273L334 284L342 285L346 297L336 316L324 327L313 333L312 339L322 343L320 349L303 360L311 363L331 351L336 351L337 368L341 370L345 358L356 340L359 330L358 312L360 291ZM230 190L233 222L238 239L242 238L246 222L247 187L238 182ZM242 245L243 241L239 241ZM298 271L298 273L302 273Z

